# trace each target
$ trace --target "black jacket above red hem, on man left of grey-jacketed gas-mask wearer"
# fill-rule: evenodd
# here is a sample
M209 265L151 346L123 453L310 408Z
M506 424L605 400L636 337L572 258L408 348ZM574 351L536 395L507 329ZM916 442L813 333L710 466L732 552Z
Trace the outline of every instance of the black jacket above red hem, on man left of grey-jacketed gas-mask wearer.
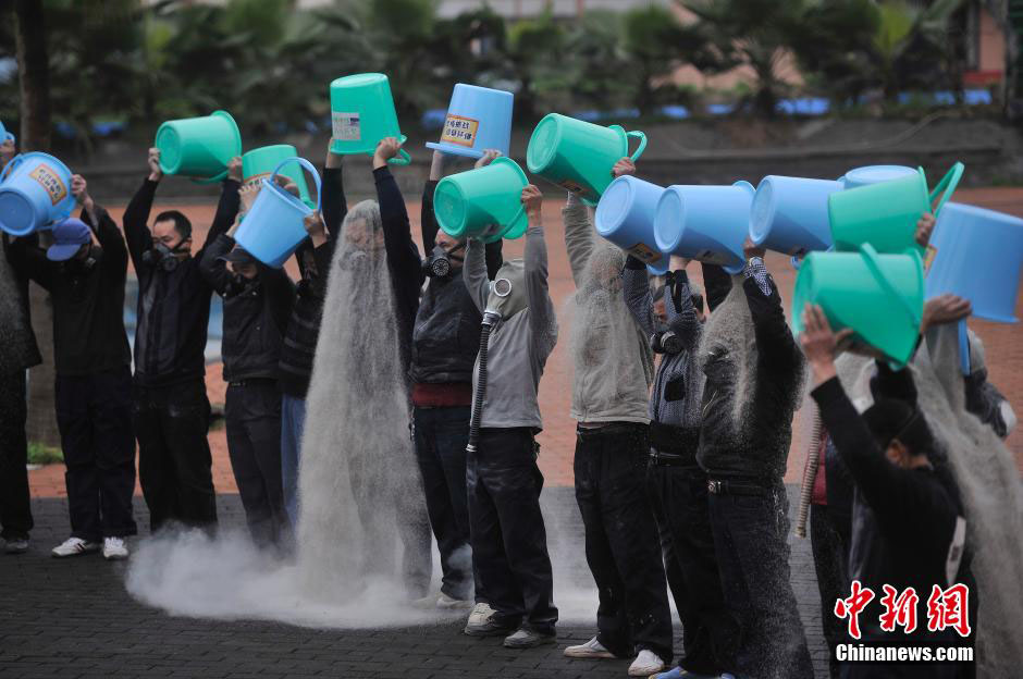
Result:
M433 214L436 184L427 182L422 192L420 221L428 255L433 250L437 233ZM501 244L496 240L486 246L486 270L491 279L501 269ZM409 379L424 384L471 383L482 320L459 272L446 279L430 279L412 330Z

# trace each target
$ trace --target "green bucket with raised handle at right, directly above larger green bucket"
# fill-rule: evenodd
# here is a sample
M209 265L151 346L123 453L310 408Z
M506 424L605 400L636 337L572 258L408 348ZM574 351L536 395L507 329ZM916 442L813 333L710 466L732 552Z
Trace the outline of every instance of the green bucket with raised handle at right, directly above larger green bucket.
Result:
M930 211L940 194L934 209L934 215L938 215L959 185L963 169L957 162L929 193L921 168L915 174L831 194L828 218L835 249L855 251L861 244L870 243L882 254L914 249L923 255L924 249L914 239L916 222Z

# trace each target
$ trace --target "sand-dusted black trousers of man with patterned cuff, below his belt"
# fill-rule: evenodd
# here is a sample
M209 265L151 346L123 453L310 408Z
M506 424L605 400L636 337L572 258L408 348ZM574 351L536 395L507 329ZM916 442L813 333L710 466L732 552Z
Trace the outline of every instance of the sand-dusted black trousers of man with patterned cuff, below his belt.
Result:
M811 679L813 665L789 582L788 497L780 480L765 482L763 491L761 496L708 496L725 604L742 629L735 674L740 679Z

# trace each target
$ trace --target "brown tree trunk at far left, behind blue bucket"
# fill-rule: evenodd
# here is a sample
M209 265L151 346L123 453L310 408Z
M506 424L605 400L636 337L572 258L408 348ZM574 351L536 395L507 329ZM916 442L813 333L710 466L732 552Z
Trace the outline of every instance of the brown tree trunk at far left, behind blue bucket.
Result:
M50 63L47 55L42 0L15 0L14 36L21 95L21 150L49 151ZM32 326L42 365L28 373L28 440L60 445L53 410L53 307L38 285L29 286Z

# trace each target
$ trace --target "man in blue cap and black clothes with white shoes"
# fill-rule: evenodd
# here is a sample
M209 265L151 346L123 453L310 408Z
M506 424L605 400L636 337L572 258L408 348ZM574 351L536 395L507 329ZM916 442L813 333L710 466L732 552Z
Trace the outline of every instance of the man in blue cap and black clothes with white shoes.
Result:
M137 532L132 356L124 331L127 248L84 177L72 175L71 193L82 219L58 223L49 248L27 237L11 246L15 266L48 291L53 304L57 424L67 468L71 536L52 555L102 548L108 560L123 559L124 539Z

